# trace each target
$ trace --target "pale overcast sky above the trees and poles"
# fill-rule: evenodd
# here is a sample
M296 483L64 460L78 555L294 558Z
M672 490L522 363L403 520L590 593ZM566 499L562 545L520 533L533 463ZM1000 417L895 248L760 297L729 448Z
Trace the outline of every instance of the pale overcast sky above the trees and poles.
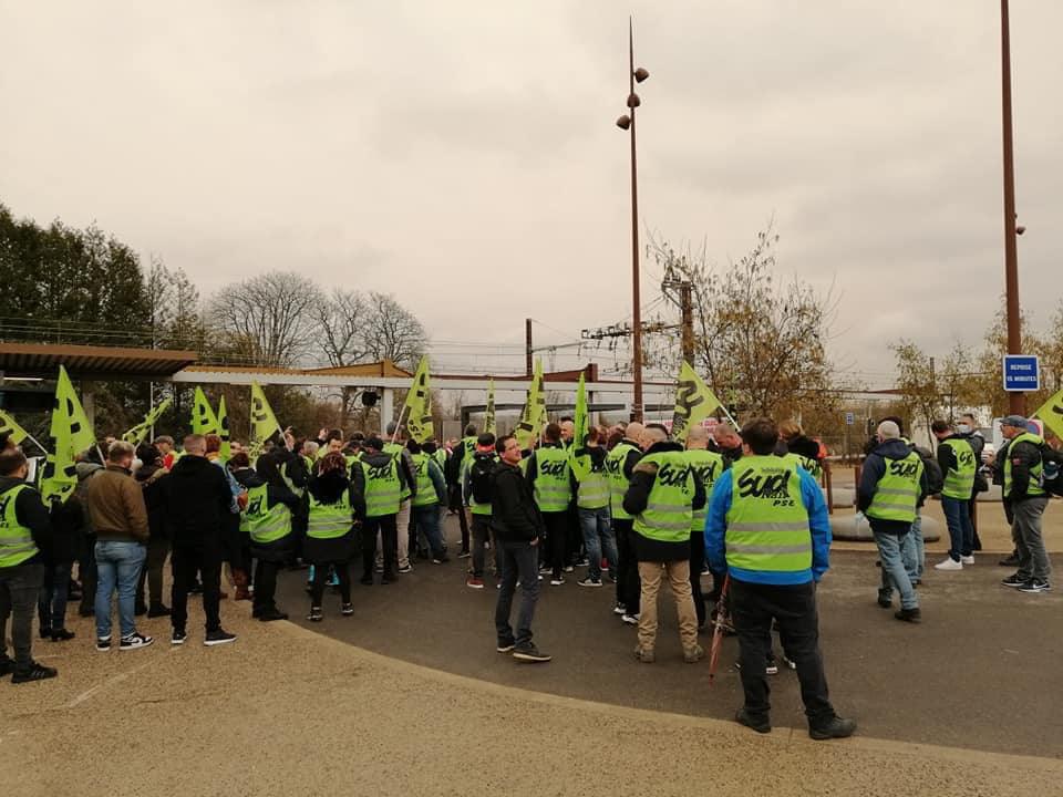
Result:
M205 296L271 269L391 291L450 371L523 368L526 315L540 342L625 320L628 141L613 121L630 10L652 74L646 227L705 239L725 263L774 217L781 270L840 293L832 352L871 385L889 382L890 340L943 356L998 307L993 0L163 9L0 0L0 201L42 224L95 220ZM1012 3L1035 324L1063 294L1061 28L1063 3Z

